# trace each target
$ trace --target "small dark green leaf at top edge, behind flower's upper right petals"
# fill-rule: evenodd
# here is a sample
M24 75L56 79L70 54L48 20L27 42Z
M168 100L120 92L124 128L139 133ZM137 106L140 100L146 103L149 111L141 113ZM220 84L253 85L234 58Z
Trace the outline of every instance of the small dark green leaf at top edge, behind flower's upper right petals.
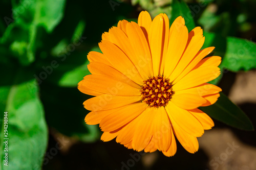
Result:
M178 0L174 0L173 3L171 4L171 7L172 7L172 13L170 17L170 25L174 22L174 20L178 16L182 16L185 19L185 25L188 31L191 31L196 27L193 16L191 15L190 9L188 8L185 2L183 1L179 2Z

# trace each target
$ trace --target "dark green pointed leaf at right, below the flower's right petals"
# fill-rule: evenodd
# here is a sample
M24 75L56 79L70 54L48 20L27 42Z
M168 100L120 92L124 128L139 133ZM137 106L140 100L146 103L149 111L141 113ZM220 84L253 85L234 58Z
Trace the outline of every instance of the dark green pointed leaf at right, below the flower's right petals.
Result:
M215 104L200 107L199 109L207 113L210 117L229 126L242 130L254 130L246 114L222 92L220 92L220 98Z

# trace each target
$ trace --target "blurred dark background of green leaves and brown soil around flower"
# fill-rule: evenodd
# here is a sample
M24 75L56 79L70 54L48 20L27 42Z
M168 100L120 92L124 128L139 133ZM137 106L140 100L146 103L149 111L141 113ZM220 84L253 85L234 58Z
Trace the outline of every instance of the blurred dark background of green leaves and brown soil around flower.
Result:
M103 32L121 19L137 22L182 15L188 31L203 28L204 47L216 46L222 75L211 82L256 126L256 1L253 0L2 0L0 2L1 141L8 112L8 167L0 169L256 169L256 133L214 119L199 138L199 151L180 144L174 157L128 150L100 141L84 123L91 96L77 83L90 72L87 54L98 51ZM1 162L4 145L1 142Z

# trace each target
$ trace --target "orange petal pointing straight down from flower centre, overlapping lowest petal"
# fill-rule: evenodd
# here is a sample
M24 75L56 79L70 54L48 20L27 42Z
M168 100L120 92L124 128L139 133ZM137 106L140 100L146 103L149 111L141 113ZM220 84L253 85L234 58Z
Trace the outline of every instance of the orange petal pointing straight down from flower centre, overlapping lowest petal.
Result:
M155 114L153 121L153 138L152 141L159 151L167 151L170 146L171 133L170 122L168 115L164 107L156 109L157 114Z

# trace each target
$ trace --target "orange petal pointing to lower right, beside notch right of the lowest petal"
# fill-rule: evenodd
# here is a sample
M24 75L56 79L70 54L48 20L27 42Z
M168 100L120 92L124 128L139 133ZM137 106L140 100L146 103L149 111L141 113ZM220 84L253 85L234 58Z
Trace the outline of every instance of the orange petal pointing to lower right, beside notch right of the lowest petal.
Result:
M170 112L169 109L166 109L166 111L168 113L170 122L172 123L172 129L174 131L174 134L177 137L177 139L179 140L179 142L182 145L182 147L185 150L187 150L187 152L189 152L189 153L197 152L198 149L199 149L199 144L198 144L197 138L195 136L193 136L193 135L190 135L186 131L184 131L178 125L178 123L175 122L175 119L172 116L172 112ZM202 125L200 124L200 126L202 126ZM190 128L192 129L193 127L190 127Z

